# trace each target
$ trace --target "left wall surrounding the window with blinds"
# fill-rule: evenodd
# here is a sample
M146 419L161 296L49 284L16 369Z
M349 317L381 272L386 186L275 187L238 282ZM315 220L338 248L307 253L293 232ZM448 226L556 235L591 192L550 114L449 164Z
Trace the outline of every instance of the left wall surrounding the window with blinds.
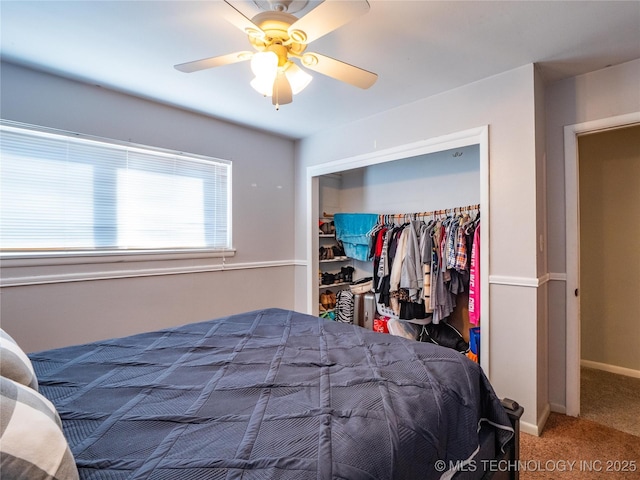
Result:
M2 327L27 351L261 307L293 308L292 141L12 64L3 63L1 75L4 119L233 162L237 252L224 259L224 270L215 257L3 263L3 285L13 286L1 290ZM144 276L136 276L140 269ZM66 281L92 276L121 278Z

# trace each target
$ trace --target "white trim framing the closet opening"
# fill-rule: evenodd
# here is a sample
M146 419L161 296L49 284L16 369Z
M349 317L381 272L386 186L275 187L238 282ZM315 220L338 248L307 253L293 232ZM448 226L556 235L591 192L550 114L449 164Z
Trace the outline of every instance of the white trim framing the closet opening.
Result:
M454 148L479 146L480 154L480 209L485 222L491 217L489 210L489 125L484 125L469 130L441 135L438 137L420 140L418 142L399 145L383 150L356 155L353 157L332 160L319 165L311 165L306 170L306 261L307 261L307 313L314 313L314 305L317 303L317 278L318 258L314 255L318 251L318 208L319 208L319 178L321 175L352 170L354 168L368 167L381 163L392 162L404 158L411 158L430 153L442 152ZM455 161L455 160L453 160ZM434 207L435 208L435 207ZM490 321L489 311L489 227L480 232L480 258L485 267L480 272L480 295L482 336L480 348L483 352L490 352ZM491 379L490 355L482 356L482 369Z

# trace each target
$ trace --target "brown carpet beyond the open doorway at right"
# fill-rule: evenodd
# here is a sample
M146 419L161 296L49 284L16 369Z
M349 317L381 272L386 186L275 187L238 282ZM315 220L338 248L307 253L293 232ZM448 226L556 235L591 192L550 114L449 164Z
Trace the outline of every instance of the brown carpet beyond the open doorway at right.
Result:
M640 378L582 367L580 417L640 437Z

